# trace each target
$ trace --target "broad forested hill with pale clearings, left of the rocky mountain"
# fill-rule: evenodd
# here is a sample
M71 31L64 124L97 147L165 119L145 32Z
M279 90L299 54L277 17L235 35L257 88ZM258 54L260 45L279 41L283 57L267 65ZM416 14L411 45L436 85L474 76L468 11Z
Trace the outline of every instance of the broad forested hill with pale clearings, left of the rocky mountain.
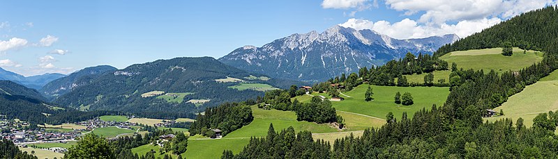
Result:
M210 106L263 95L252 86L244 86L245 83L286 87L289 82L293 83L251 74L214 58L173 58L103 74L91 83L63 94L54 103L81 110L160 112L157 113L159 118L193 117L193 113ZM239 88L231 88L234 86Z

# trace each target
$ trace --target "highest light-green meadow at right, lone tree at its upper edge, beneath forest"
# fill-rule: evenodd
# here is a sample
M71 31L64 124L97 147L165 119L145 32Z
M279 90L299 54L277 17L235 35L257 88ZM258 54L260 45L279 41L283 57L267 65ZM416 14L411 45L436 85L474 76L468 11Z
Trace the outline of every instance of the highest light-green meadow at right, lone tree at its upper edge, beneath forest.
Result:
M502 56L500 53L502 53L501 48L455 51L439 58L447 61L450 67L451 63L455 62L459 68L484 69L484 72L490 72L490 69L496 72L519 70L543 60L543 53L536 51L523 53L523 50L518 48L513 48L513 55L509 57Z

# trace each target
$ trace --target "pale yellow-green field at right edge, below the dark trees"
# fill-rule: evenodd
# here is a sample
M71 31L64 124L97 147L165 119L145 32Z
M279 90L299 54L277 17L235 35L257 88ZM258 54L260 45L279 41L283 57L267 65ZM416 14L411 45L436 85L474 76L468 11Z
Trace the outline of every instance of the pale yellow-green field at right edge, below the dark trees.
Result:
M488 117L485 120L494 122L498 119L511 118L513 122L519 117L525 126L532 126L533 119L542 112L558 110L558 71L552 72L541 81L528 85L525 90L511 96L502 106L495 108L497 112L504 110L504 116Z

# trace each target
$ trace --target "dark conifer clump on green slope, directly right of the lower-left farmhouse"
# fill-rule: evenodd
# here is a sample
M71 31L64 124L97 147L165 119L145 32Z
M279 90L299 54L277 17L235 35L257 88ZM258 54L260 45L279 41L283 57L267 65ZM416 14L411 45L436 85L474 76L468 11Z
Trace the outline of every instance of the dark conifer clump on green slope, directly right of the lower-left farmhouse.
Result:
M252 108L239 103L223 103L216 108L206 108L205 114L198 114L190 126L190 135L213 136L211 129L220 129L222 135L242 128L252 122Z

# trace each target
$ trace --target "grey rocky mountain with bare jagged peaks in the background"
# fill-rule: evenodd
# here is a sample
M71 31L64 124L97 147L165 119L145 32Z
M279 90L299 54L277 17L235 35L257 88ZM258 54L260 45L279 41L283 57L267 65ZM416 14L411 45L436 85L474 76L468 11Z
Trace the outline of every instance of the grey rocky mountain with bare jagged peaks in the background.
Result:
M325 81L361 67L384 65L414 54L436 51L458 40L455 34L397 40L371 30L333 26L323 33L312 31L274 40L262 47L245 46L219 58L227 65L274 78Z

